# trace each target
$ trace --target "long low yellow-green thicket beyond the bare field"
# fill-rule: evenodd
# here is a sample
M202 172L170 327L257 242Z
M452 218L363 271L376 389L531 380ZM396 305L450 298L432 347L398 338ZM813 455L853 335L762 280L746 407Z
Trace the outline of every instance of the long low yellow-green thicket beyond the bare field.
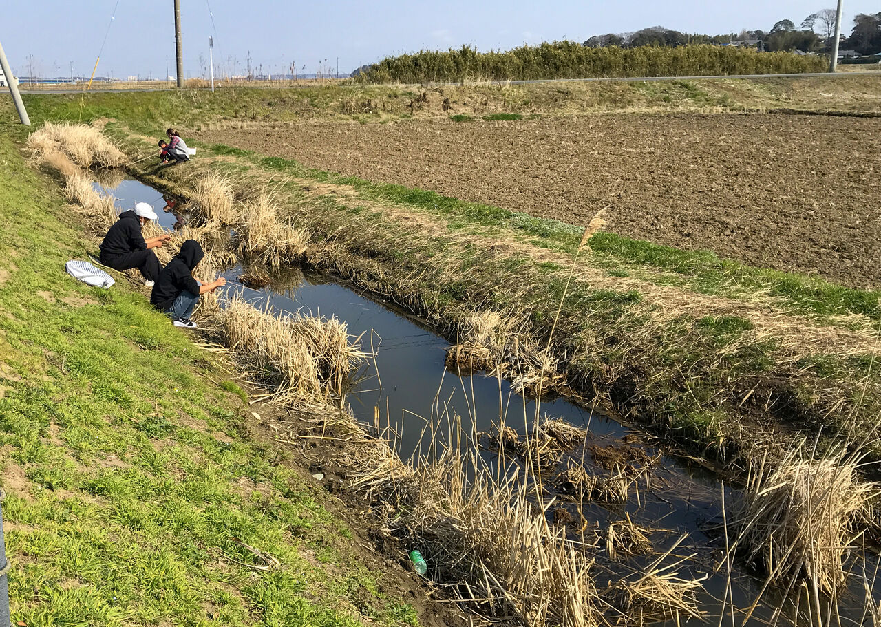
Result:
M387 57L359 71L369 83L436 83L469 79L711 76L802 73L825 70L824 57L708 43L642 44L593 48L554 41L507 51L478 52L464 46L446 52L421 50ZM360 70L360 69L359 69Z

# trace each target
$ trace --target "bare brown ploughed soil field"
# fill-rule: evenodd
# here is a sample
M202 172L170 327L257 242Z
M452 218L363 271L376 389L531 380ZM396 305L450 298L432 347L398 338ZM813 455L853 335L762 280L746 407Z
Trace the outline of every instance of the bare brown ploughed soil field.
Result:
M881 285L881 119L602 114L302 123L220 143L761 267Z

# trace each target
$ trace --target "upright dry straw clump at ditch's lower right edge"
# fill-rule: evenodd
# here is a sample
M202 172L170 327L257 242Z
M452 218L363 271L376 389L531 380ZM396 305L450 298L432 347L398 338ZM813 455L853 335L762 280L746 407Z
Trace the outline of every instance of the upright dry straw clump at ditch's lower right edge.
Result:
M854 541L850 523L877 496L858 465L843 452L805 459L802 446L771 470L763 460L738 504L737 544L746 547L748 560L783 585L804 577L825 594L840 588Z

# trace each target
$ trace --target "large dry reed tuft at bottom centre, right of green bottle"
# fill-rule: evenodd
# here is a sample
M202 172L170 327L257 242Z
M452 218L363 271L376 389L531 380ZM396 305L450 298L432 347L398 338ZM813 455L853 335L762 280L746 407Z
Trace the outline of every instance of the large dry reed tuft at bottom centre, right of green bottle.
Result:
M591 562L516 476L448 447L436 461L387 464L353 484L391 505L390 534L418 548L428 576L478 614L530 627L598 624Z

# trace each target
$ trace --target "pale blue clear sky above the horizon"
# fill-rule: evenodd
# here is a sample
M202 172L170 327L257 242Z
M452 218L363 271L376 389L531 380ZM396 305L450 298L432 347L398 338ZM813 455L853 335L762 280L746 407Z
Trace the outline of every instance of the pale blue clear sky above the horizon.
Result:
M513 48L522 43L667 26L690 33L730 33L743 28L768 30L789 18L796 26L830 0L811 4L790 0L446 0L421 3L402 0L292 3L268 0L209 0L216 26L215 66L244 73L251 65L274 73L290 68L312 73L327 59L329 71L348 73L385 55L420 48ZM13 70L67 76L70 62L77 75L91 73L117 0L33 0L15 3L0 20L3 43ZM101 55L98 75L162 77L166 62L174 74L172 0L118 0L115 19ZM200 76L207 67L208 37L214 34L208 2L181 0L184 74ZM850 33L856 13L881 11L881 2L845 0L842 31ZM236 63L237 60L237 63ZM303 66L305 65L305 70Z

